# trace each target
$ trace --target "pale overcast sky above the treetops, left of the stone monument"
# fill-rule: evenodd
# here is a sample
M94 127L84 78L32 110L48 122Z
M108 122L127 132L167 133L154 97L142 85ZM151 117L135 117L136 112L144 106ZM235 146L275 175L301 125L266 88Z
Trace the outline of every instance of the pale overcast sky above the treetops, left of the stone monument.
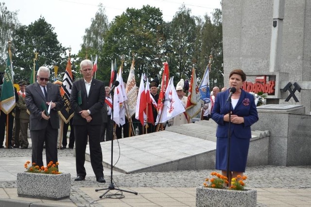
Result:
M54 27L63 47L71 47L71 54L78 53L85 29L91 25L99 3L103 3L108 21L121 15L126 8L141 9L149 4L160 8L164 21L171 21L182 3L191 9L191 15L204 16L221 8L220 0L0 0L9 11L18 11L18 20L29 25L43 16ZM13 40L14 41L14 40Z

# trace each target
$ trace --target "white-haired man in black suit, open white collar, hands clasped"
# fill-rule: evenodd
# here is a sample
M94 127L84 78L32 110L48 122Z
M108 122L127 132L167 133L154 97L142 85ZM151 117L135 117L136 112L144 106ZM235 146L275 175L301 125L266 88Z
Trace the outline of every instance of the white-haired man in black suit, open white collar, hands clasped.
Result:
M105 100L104 82L93 79L93 64L83 60L80 64L83 79L73 82L70 104L74 111L72 125L76 142L75 181L85 180L85 153L87 137L90 149L91 165L98 182L104 183L103 154L100 145L103 125L102 109Z

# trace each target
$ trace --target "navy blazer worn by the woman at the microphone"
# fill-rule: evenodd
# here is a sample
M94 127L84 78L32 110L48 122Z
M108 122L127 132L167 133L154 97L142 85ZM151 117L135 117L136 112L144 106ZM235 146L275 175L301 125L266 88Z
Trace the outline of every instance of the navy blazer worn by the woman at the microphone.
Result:
M254 96L241 89L240 99L231 111L232 114L244 117L244 123L234 124L230 123L230 134L234 133L236 137L242 139L250 139L252 137L251 125L258 121L257 108L255 105ZM229 122L224 121L224 115L229 113L229 104L226 102L229 96L229 89L225 92L218 93L216 101L211 112L211 118L218 124L216 137L228 137Z

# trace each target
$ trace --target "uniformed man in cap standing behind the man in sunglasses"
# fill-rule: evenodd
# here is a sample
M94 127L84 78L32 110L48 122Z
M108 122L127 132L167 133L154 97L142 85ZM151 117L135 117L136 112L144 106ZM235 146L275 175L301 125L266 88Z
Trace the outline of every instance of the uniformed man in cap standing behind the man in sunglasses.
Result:
M26 106L26 92L25 87L27 85L27 82L25 80L20 80L18 82L19 85L19 91L18 93L18 106L19 106L19 126L20 126L20 133L19 133L19 144L21 149L27 149L28 148L28 124L29 124L29 113L27 112L27 106ZM15 116L15 124L17 123L17 119ZM15 125L16 126L16 125ZM16 127L17 129L17 127ZM15 131L15 137L17 138L17 130ZM17 142L15 142L17 144ZM14 145L15 147L16 145Z

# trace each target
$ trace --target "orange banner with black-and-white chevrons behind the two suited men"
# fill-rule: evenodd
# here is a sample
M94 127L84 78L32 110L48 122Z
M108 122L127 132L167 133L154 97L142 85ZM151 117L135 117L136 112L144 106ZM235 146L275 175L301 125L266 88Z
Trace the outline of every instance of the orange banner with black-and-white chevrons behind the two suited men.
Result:
M65 106L58 111L59 116L63 119L63 121L67 124L69 120L73 116L73 109L70 105L70 94L71 94L71 87L72 87L72 71L71 71L71 62L70 62L70 53L69 53L69 59L66 66L66 71L63 78L63 83L60 87L60 95L62 96Z

